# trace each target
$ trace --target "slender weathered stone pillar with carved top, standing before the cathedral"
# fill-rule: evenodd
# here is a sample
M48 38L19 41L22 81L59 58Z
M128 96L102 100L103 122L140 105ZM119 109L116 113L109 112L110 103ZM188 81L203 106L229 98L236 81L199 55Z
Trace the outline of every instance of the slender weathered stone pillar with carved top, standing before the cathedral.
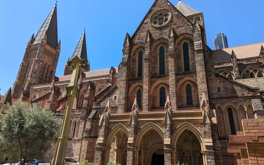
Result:
M68 87L66 87L68 101L63 118L62 127L60 130L60 137L58 138L56 151L54 154L53 165L64 165L65 153L68 142L68 132L71 121L71 110L73 105L73 100L78 93L78 78L79 70L84 65L86 65L87 60L81 59L78 56L75 56L71 61L68 61L68 66L73 67L73 72L71 75L71 81Z

